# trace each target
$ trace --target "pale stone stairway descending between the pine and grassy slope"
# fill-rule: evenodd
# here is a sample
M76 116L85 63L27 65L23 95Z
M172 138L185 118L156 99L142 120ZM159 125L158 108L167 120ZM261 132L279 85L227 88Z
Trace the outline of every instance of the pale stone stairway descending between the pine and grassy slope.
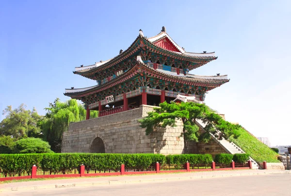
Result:
M200 120L196 120L196 124L198 127L200 127L202 130L204 130L206 124ZM227 153L229 154L237 154L237 153L245 153L240 147L236 146L233 142L229 142L226 139L218 140L214 135L211 135L211 138L220 146L222 147ZM249 157L252 161L252 167L253 169L259 169L259 164L256 163L251 157Z

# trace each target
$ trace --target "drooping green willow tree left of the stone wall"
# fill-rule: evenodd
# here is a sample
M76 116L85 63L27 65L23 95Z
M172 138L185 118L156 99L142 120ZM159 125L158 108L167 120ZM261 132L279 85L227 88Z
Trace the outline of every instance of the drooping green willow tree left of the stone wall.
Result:
M49 107L45 110L47 113L41 121L44 139L49 142L53 151L60 152L63 132L68 130L70 122L85 120L86 110L76 99L61 102L59 98L49 103ZM91 118L97 116L97 111L90 111Z

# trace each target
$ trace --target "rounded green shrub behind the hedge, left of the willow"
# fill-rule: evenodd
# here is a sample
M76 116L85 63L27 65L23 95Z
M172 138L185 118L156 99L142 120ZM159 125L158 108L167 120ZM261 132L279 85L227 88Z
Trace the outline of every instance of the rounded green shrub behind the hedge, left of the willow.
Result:
M16 142L15 152L19 154L25 153L50 153L48 142L41 140L40 138L26 138Z

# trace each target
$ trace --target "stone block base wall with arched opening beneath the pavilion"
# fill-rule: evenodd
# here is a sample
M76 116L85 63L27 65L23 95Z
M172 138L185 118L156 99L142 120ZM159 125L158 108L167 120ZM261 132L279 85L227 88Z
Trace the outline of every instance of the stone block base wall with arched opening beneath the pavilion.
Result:
M159 128L146 135L138 120L150 111L153 111L153 106L142 105L129 111L71 123L69 130L63 134L62 152L183 153L181 122L177 122L177 127ZM187 152L226 153L214 141L208 144L188 142Z

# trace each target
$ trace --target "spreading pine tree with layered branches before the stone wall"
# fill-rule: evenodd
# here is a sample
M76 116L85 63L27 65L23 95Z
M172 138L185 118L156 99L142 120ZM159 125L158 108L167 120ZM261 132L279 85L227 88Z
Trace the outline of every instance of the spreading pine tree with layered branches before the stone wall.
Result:
M206 123L205 132L199 132L196 125L196 119L203 120ZM148 116L140 120L141 127L146 128L146 135L153 132L157 127L166 128L166 126L176 127L176 121L181 120L183 123L185 152L187 152L187 142L209 142L210 133L218 139L228 139L233 135L238 137L237 130L240 125L233 125L225 121L220 115L215 114L205 104L194 102L167 103L163 102L159 108L154 108Z

